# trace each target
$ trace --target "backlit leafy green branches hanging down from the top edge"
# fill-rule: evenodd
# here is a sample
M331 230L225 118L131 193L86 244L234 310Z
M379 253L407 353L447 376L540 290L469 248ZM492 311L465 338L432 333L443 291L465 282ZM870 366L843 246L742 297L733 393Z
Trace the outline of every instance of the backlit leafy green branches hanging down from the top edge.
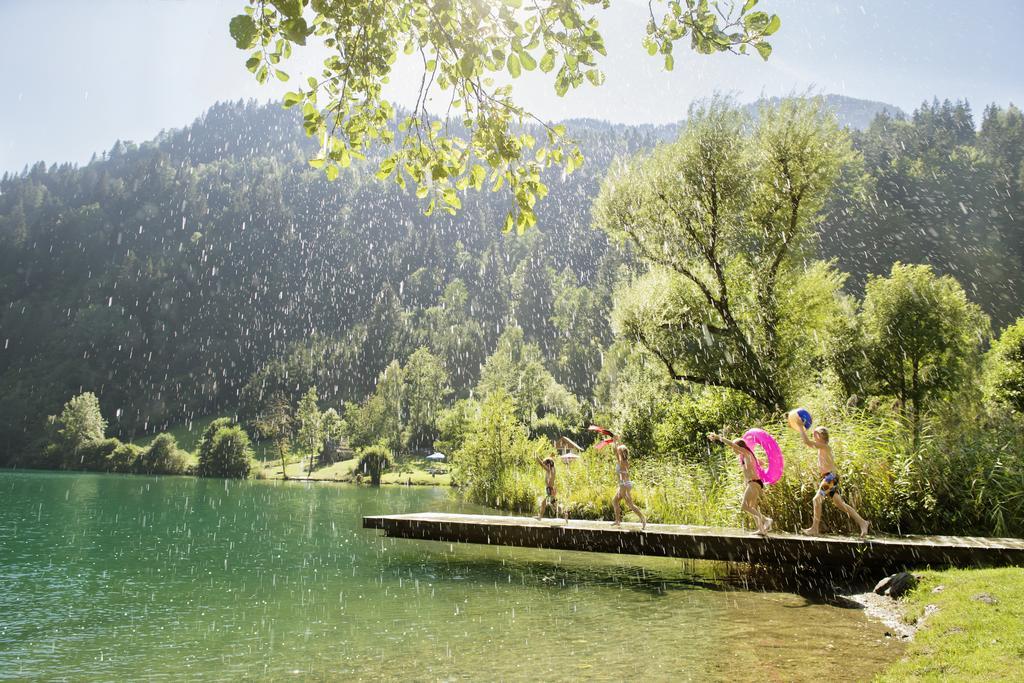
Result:
M758 0L652 0L643 46L673 68L674 47L689 39L701 54L743 53L765 59L766 38L780 26L756 11ZM610 0L248 0L230 20L246 67L260 82L290 79L282 69L296 49L323 49L324 69L284 96L302 111L303 126L319 142L311 160L329 178L376 145L386 147L378 175L455 212L459 193L484 183L510 188L506 229L536 221L534 206L547 194L541 171L566 172L583 162L562 126L531 115L513 97L509 79L540 70L558 95L585 83L599 86L606 55L598 13ZM404 55L404 56L403 56ZM398 116L383 89L399 58L422 72L412 111ZM446 111L432 117L437 91ZM449 124L452 125L449 125ZM542 140L523 128L538 124ZM534 132L537 132L536 130ZM396 135L397 133L397 135Z

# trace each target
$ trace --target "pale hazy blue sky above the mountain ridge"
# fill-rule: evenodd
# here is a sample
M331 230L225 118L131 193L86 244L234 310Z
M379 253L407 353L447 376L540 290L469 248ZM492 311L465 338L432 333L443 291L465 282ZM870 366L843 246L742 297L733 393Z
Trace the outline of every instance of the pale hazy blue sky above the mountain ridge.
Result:
M117 139L187 125L218 100L280 99L288 84L258 85L227 34L245 4L0 0L0 172L40 160L85 163ZM782 19L767 62L680 49L667 73L640 44L646 2L612 0L599 14L605 84L558 97L531 74L515 82L516 96L544 119L615 123L679 121L716 92L749 101L810 90L907 112L932 97L966 98L977 115L989 102L1024 104L1019 0L761 0L759 9ZM316 73L322 58L297 50L286 71ZM411 103L418 83L399 62L388 94Z

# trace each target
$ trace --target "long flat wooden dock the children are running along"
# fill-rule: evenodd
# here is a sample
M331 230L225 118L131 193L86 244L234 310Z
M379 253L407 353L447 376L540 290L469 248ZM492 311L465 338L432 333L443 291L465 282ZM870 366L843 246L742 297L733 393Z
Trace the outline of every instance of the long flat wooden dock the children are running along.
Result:
M739 528L624 523L424 512L362 518L364 528L397 539L794 564L822 569L913 566L1024 566L1024 540L949 536L767 538Z

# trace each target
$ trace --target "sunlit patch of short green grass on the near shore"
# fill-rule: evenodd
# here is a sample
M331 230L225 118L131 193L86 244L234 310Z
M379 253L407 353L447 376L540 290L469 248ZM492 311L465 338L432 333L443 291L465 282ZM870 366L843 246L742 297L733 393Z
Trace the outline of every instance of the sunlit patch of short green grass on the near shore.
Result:
M1021 680L1024 568L926 571L902 604L907 622L931 613L904 657L877 680Z

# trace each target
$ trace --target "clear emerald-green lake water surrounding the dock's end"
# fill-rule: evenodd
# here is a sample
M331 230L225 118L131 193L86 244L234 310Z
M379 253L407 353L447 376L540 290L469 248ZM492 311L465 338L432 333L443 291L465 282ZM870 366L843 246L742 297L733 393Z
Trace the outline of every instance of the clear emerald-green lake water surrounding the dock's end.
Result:
M721 565L382 539L446 490L0 472L0 679L864 680L858 609ZM781 571L781 569L780 569Z

